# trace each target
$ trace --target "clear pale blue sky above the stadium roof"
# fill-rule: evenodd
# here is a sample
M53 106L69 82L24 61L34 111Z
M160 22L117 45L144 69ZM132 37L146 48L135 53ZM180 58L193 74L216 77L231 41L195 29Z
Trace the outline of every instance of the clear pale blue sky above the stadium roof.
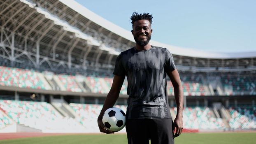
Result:
M256 51L256 0L75 1L128 31L133 12L150 13L151 39L164 44L225 53Z

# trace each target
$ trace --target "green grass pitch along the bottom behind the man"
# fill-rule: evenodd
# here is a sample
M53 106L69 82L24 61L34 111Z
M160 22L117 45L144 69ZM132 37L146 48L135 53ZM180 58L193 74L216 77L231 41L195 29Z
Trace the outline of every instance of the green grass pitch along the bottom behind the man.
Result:
M184 133L175 144L255 144L256 132ZM59 135L0 140L0 144L127 144L125 134Z

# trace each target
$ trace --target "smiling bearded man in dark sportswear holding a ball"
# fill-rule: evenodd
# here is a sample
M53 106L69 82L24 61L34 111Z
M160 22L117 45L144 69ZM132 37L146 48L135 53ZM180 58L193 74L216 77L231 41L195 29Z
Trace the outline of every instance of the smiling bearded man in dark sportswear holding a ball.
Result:
M126 76L129 95L126 111L128 144L149 144L149 139L151 144L174 144L174 137L179 136L183 129L181 80L171 53L166 48L149 44L153 31L152 18L152 15L137 12L131 16L131 32L136 46L117 57L113 84L98 117L100 132L114 133L104 127L102 116L115 104ZM177 116L174 122L168 105L166 74L175 92Z

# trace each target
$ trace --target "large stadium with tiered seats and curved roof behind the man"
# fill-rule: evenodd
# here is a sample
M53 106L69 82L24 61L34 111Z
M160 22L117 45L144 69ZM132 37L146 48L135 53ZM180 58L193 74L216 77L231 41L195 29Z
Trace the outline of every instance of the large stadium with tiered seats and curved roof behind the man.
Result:
M256 131L256 51L209 53L151 44L166 47L179 70L184 132ZM115 60L134 45L130 32L75 1L0 0L0 136L100 133L97 118ZM127 85L125 80L115 106L123 111Z

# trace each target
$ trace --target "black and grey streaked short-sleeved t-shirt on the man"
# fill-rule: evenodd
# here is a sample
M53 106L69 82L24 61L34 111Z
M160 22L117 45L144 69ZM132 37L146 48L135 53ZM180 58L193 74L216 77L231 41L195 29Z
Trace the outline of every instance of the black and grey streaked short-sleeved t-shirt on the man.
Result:
M151 46L138 51L133 47L120 53L113 74L128 80L127 118L171 118L165 72L175 68L166 48Z

